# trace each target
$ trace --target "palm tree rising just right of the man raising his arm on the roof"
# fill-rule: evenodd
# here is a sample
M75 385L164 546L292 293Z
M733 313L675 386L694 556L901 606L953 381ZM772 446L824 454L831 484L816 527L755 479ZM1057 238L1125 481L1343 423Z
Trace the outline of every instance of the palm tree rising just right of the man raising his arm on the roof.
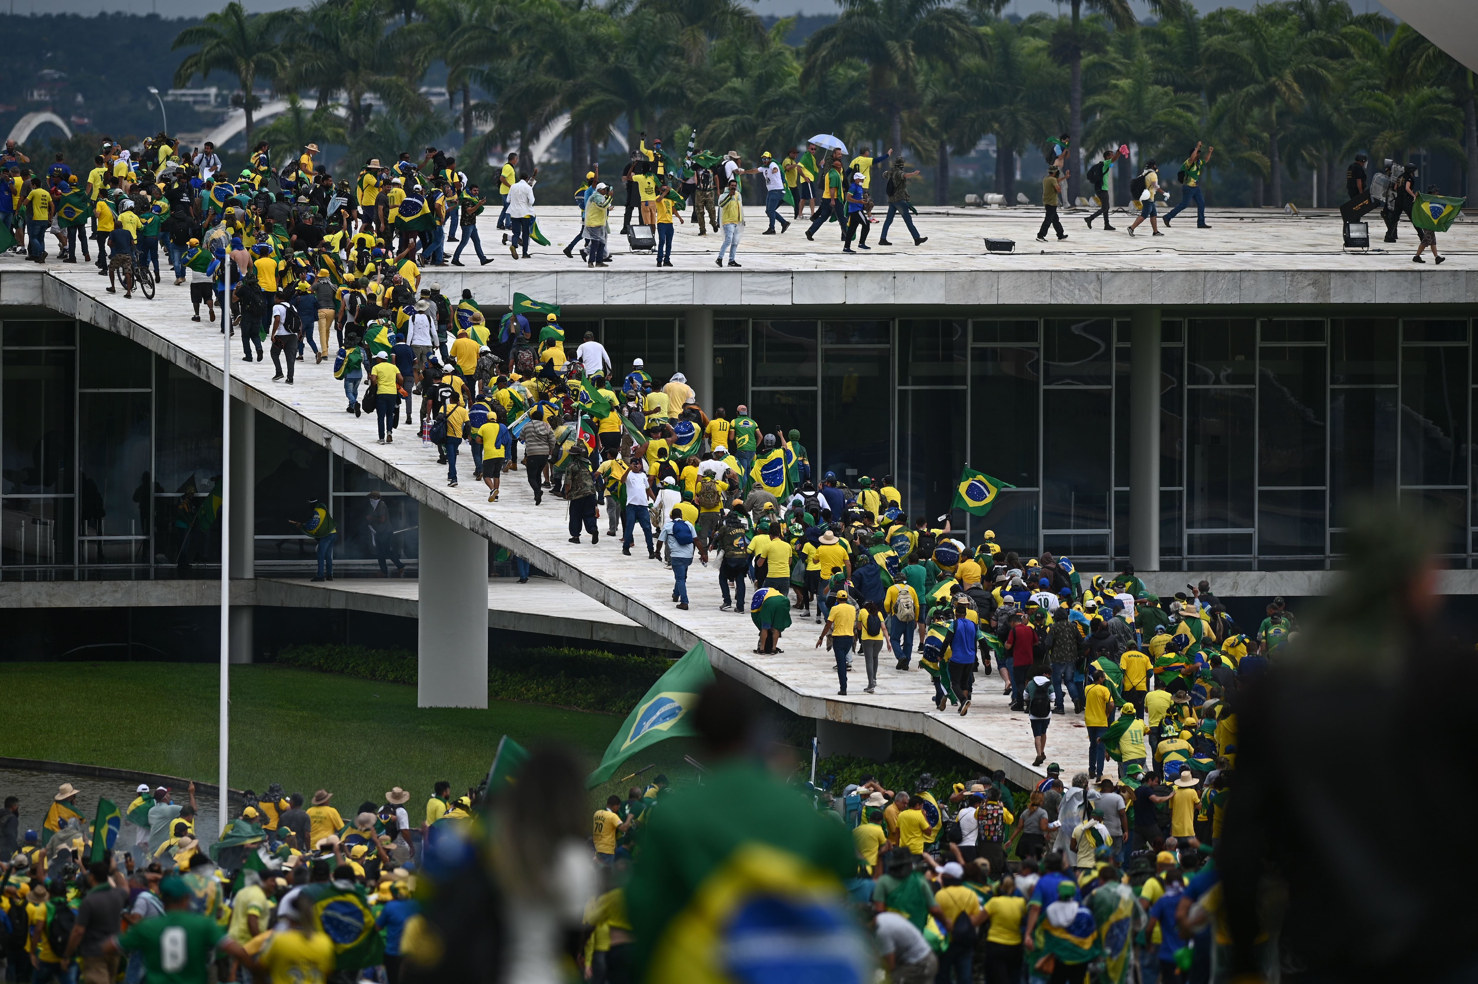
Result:
M1341 44L1323 31L1310 31L1284 7L1216 12L1228 28L1206 41L1206 59L1219 101L1233 115L1259 114L1267 127L1273 204L1281 204L1281 139L1305 102L1335 81Z

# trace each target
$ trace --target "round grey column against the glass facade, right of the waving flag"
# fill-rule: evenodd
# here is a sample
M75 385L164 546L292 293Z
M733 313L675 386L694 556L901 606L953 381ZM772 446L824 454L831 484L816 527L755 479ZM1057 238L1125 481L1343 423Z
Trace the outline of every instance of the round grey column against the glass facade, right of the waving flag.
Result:
M1160 309L1129 321L1129 562L1160 570Z

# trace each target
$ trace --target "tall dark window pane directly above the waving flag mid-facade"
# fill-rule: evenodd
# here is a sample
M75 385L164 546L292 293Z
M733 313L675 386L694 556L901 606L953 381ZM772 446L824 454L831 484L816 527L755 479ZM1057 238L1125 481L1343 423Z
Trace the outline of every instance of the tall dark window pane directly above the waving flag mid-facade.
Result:
M970 462L974 468L1012 485L1036 485L1038 392L1036 349L971 349Z

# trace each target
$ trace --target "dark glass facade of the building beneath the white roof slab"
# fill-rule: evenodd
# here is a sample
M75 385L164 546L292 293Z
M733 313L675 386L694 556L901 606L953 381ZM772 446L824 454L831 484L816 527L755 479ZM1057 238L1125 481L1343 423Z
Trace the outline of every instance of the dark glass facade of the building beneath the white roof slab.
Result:
M1256 314L1256 312L1253 312ZM584 321L618 376L683 364L677 318ZM214 576L200 509L220 476L220 400L142 346L69 320L0 321L0 577ZM1444 530L1478 556L1478 348L1465 320L1166 317L1160 373L1162 567L1338 565L1360 500ZM1011 549L1089 567L1129 550L1129 326L1114 318L718 318L714 394L797 429L817 475L893 476L910 516L950 509L965 466L1004 482L987 516ZM402 558L417 505L268 417L256 428L256 561L299 571L290 524L333 503L336 562L375 565L365 496L389 502Z

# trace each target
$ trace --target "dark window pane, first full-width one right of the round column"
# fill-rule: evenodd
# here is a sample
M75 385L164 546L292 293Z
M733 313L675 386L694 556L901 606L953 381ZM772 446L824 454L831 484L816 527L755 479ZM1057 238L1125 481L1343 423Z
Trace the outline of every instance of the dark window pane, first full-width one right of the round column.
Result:
M1185 462L1194 528L1252 527L1253 402L1250 389L1191 389Z

